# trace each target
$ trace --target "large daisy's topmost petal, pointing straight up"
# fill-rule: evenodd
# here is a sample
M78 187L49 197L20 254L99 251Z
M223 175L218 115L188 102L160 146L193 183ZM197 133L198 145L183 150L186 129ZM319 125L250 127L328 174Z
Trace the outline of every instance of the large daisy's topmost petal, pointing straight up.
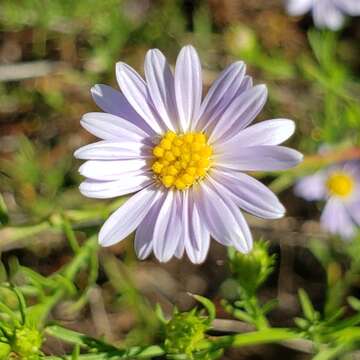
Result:
M188 131L191 122L197 119L202 96L201 64L196 50L184 46L176 60L175 95L180 129Z

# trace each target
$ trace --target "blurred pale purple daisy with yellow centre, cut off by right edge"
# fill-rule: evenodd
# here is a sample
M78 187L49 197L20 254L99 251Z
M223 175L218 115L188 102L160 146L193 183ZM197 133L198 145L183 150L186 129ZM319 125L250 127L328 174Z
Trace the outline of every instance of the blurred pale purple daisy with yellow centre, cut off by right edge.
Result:
M343 238L355 235L360 225L360 162L348 161L306 176L295 194L308 201L325 200L321 226Z

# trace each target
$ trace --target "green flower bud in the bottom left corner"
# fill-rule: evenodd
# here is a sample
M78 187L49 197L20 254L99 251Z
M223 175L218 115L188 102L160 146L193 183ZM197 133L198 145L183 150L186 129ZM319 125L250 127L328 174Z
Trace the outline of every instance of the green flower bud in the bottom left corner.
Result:
M11 342L11 350L20 359L36 360L39 358L42 340L41 333L35 328L26 326L17 328Z

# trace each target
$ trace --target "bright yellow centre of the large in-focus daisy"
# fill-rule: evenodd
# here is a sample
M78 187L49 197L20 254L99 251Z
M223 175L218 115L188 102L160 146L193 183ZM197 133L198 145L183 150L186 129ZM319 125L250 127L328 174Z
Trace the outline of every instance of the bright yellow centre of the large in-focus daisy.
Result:
M152 171L167 187L184 190L204 177L210 168L212 148L203 133L168 131L153 148Z

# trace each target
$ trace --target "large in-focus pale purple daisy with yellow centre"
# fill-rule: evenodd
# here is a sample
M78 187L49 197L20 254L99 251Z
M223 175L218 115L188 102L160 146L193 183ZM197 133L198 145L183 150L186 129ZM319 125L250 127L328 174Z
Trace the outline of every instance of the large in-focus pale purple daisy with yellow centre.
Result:
M245 64L225 69L202 101L199 57L185 46L172 73L164 55L149 50L145 81L116 64L122 92L96 85L92 95L104 112L85 114L82 126L103 139L75 152L87 160L82 194L114 198L135 193L105 222L103 246L137 229L135 250L165 262L186 251L204 261L210 236L247 253L252 236L243 210L263 218L284 215L276 196L244 171L295 166L302 155L278 146L294 132L291 120L248 126L265 104L264 85L253 86Z

